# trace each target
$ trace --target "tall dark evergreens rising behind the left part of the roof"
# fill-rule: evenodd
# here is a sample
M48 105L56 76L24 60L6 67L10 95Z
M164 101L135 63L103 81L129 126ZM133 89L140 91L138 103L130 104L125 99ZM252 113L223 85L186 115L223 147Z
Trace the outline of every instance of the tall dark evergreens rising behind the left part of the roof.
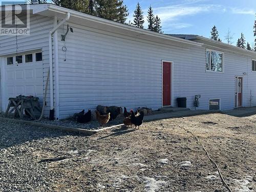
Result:
M30 0L30 4L47 3L47 0ZM54 5L113 20L122 24L144 28L144 15L138 3L133 14L133 22L126 23L129 10L124 5L123 0L52 0ZM147 11L147 29L158 33L162 32L161 19L154 15L153 8L150 6Z

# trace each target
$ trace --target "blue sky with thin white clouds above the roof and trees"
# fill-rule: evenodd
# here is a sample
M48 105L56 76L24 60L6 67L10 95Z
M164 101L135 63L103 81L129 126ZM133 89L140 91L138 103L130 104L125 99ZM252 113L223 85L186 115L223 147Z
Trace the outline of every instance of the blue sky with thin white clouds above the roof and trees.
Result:
M133 20L133 11L138 2L144 11L144 18L148 6L153 7L155 15L162 20L164 33L209 37L212 26L216 25L223 42L229 29L233 34L233 45L236 45L241 32L246 41L253 45L256 0L124 0L130 12L128 20Z

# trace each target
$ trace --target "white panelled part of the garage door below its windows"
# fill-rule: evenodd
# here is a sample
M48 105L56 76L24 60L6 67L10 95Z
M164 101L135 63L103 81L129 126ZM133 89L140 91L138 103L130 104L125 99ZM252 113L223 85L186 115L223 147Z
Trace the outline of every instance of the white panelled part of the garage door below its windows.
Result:
M7 99L18 95L43 98L42 62L6 65Z

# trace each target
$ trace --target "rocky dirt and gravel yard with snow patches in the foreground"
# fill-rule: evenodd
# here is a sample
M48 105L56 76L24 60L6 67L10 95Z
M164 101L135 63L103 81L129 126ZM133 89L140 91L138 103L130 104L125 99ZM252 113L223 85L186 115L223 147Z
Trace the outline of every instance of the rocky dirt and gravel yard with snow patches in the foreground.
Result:
M0 122L0 191L256 191L256 115L144 123L91 137Z

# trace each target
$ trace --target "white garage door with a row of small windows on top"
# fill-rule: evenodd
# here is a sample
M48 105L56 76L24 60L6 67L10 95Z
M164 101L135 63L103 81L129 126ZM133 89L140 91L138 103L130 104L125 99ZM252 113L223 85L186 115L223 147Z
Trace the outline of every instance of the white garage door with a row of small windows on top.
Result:
M36 96L42 102L42 53L31 52L6 57L7 99L18 95Z

